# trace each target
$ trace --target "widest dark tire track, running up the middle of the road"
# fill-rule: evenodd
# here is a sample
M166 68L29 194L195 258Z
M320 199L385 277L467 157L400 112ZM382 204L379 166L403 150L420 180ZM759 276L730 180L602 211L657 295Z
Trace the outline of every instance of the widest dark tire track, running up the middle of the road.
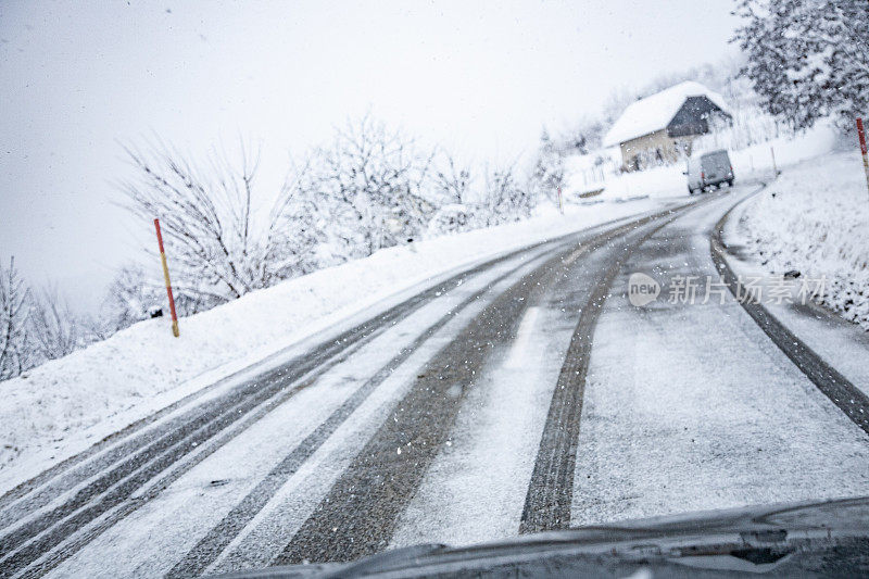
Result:
M684 205L683 205L684 206ZM679 207L681 209L681 207ZM644 217L597 236L601 247L675 211ZM275 559L352 561L389 545L398 518L449 435L461 403L498 347L506 347L533 292L542 292L565 259L559 254L499 295L456 339L429 361L392 416L366 443L314 513Z

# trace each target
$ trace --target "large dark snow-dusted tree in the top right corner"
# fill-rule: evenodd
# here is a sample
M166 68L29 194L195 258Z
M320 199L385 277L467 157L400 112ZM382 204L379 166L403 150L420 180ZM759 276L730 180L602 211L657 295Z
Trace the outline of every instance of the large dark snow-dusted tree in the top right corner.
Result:
M771 114L796 128L869 112L869 2L740 0L742 71Z

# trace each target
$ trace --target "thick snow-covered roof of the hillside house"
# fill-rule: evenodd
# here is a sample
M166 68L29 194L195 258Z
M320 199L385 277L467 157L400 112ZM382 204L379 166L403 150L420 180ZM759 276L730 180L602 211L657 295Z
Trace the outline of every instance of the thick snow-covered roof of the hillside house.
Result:
M666 127L689 97L706 97L719 109L729 112L725 99L700 83L685 80L651 97L640 99L625 109L604 137L604 147L648 135Z

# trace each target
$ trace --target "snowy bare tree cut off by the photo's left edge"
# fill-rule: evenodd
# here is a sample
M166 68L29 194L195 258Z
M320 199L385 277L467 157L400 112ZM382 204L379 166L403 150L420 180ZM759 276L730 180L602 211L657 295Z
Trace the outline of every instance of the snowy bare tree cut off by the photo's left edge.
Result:
M32 363L27 351L27 317L30 292L15 269L0 265L0 380L17 376Z

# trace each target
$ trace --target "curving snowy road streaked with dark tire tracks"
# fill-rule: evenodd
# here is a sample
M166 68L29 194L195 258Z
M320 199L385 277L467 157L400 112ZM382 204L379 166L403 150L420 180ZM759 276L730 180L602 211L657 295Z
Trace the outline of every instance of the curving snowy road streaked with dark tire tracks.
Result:
M731 294L667 300L676 276L717 279L710 237L750 192L482 264L59 465L0 499L0 576L184 577L869 494L865 399L832 400L815 354ZM658 300L629 303L634 272Z

